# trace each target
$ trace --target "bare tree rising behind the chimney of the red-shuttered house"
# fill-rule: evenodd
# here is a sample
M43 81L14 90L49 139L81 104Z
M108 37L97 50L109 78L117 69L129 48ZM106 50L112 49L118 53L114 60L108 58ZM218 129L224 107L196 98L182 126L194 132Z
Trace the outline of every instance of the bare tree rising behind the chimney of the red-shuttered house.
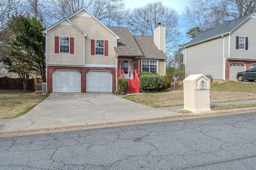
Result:
M127 26L134 35L154 36L154 29L160 22L166 27L166 53L170 53L178 40L178 14L162 2L148 3L134 8L127 21Z

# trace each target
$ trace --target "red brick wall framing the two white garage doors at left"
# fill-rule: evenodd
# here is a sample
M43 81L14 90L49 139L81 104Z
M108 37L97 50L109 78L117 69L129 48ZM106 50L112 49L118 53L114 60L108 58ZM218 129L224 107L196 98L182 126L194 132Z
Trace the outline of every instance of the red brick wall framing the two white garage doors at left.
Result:
M56 70L77 70L81 74L81 92L86 92L86 74L90 70L108 70L112 74L112 91L116 90L116 68L47 66L47 92L52 93L52 74Z

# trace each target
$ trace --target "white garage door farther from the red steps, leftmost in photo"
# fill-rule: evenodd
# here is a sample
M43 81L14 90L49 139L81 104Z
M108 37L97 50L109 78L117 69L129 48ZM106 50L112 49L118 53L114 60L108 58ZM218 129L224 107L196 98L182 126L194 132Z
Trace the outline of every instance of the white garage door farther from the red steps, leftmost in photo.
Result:
M52 75L52 91L80 93L81 75L76 70L57 70Z

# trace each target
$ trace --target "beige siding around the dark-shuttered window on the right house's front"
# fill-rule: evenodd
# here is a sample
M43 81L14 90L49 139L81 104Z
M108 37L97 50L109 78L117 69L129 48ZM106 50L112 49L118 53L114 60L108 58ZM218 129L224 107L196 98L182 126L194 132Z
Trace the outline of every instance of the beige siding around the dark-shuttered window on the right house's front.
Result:
M230 35L230 57L256 59L256 18L248 18ZM248 37L248 50L236 49L236 36Z

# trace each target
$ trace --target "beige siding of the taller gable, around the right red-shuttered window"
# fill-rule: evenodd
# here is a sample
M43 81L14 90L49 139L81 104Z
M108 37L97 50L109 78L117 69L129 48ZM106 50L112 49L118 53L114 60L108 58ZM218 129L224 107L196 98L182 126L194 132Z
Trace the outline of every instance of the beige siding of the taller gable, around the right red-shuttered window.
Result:
M73 16L70 20L88 35L85 38L85 64L114 65L116 36L92 17ZM91 55L91 39L108 40L108 56Z

